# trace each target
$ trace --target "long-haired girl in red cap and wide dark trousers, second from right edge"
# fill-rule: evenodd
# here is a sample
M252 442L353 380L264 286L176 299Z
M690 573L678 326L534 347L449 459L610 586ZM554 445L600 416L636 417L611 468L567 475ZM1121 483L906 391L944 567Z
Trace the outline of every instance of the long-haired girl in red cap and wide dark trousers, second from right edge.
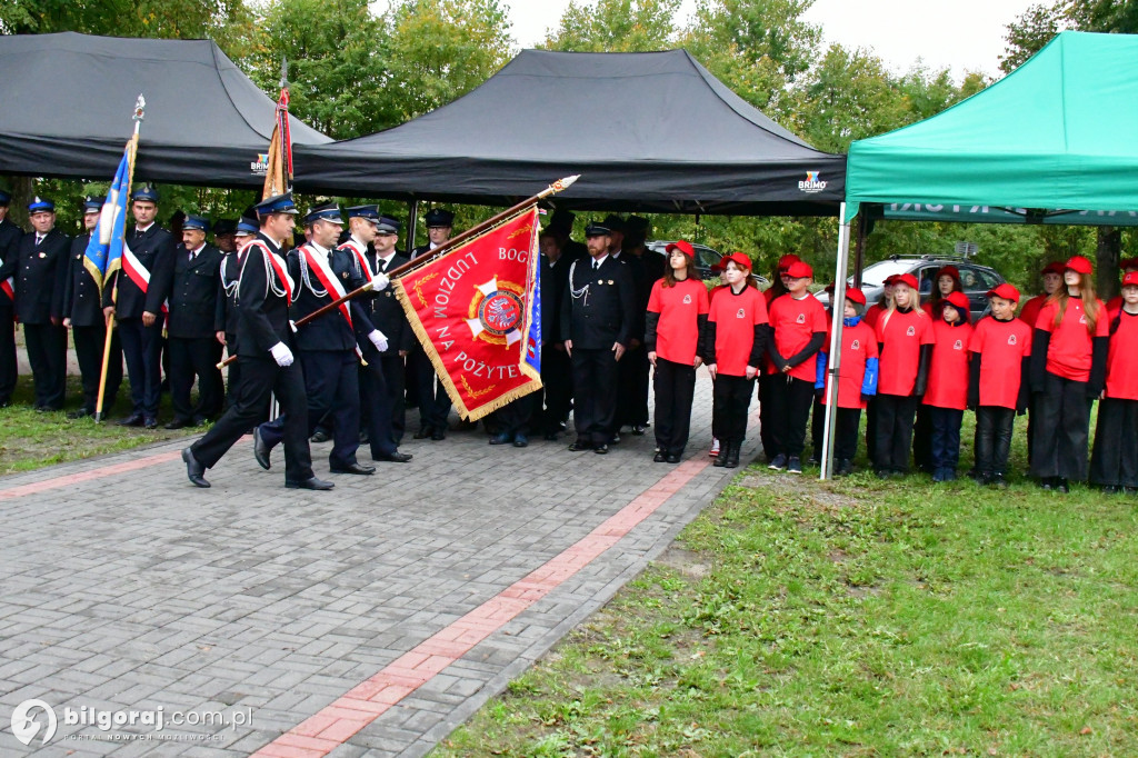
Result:
M1045 489L1069 492L1071 479L1087 478L1090 405L1106 374L1111 324L1095 297L1090 261L1066 263L1063 283L1039 312L1031 345L1034 426L1031 472Z

